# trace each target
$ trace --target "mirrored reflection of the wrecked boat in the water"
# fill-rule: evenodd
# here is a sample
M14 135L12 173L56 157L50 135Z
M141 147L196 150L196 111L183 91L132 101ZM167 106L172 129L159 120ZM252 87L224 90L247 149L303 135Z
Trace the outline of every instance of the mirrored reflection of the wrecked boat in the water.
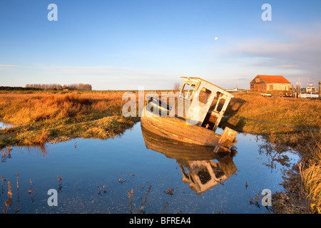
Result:
M183 182L189 183L190 189L198 195L222 184L237 170L233 162L235 152L227 147L196 145L163 138L143 127L141 130L147 149L175 159Z

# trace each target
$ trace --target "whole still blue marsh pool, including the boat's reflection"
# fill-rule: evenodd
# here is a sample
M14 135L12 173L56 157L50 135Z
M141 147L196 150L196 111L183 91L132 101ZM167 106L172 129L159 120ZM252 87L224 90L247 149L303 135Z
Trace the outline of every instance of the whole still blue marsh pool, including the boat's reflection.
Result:
M258 135L236 138L233 153L214 155L208 148L148 141L155 138L136 123L108 140L7 147L1 150L0 209L11 214L269 213L262 191L282 191L284 171L299 157L290 150L277 152ZM57 206L48 204L52 189Z

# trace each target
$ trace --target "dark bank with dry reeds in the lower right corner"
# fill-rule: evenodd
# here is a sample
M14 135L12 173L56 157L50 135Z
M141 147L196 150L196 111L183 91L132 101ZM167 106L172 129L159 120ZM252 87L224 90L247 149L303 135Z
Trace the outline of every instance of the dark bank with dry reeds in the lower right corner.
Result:
M306 170L314 172L320 169L320 130L305 130L300 133L283 133L265 135L270 146L280 155L282 151L294 150L300 156L300 161L284 171L284 181L280 183L285 192L275 192L272 195L273 213L276 214L311 214L320 213L320 175L305 175ZM278 162L280 156L274 158ZM311 171L312 170L312 171ZM308 186L313 182L315 190ZM313 197L311 197L313 196Z

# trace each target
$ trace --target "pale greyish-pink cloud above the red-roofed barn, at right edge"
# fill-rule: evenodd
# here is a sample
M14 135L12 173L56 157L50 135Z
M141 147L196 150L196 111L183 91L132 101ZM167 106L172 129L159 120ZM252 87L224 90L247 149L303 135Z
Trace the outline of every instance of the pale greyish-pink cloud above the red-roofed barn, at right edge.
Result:
M267 58L271 65L280 68L297 68L321 73L321 31L320 25L290 30L279 35L286 38L271 40L256 38L235 46L235 53L241 56Z

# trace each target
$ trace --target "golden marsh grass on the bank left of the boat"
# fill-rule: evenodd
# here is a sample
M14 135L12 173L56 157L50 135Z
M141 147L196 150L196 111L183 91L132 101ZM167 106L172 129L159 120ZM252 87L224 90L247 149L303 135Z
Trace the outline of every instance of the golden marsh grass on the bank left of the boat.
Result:
M0 147L43 145L71 138L111 138L138 119L123 118L122 92L1 94Z

